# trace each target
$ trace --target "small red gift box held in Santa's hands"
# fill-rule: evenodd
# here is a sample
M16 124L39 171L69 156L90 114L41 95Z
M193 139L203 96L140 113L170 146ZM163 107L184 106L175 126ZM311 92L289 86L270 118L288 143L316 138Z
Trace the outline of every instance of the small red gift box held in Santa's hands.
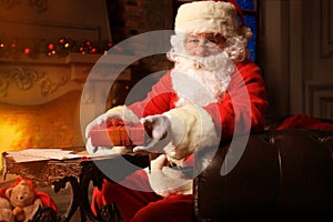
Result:
M144 127L142 123L123 122L111 119L90 131L93 147L135 147L144 145Z

